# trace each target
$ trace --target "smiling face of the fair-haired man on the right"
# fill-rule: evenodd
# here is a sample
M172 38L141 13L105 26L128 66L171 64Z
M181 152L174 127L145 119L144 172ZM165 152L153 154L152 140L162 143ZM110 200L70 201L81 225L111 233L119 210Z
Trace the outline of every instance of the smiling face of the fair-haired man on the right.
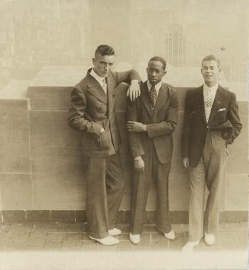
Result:
M202 63L201 74L206 85L216 85L219 73L221 73L221 68L217 66L216 61L204 61Z

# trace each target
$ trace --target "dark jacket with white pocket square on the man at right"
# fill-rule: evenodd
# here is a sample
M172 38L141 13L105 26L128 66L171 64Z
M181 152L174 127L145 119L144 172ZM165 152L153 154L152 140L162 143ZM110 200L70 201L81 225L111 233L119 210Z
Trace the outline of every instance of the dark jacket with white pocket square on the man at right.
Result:
M201 159L208 130L217 130L226 140L226 144L231 144L235 137L239 135L241 128L238 103L234 93L218 85L207 123L203 85L187 92L182 134L182 155L183 157L189 157L191 167L196 167Z

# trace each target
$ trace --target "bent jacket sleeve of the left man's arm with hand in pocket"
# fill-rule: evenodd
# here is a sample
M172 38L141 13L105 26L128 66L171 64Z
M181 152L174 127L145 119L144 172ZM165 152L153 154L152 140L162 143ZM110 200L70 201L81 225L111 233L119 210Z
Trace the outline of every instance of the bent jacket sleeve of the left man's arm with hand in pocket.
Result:
M88 133L100 135L102 125L89 120L85 115L87 100L84 89L73 88L70 100L71 108L68 112L68 125L74 130L85 130Z

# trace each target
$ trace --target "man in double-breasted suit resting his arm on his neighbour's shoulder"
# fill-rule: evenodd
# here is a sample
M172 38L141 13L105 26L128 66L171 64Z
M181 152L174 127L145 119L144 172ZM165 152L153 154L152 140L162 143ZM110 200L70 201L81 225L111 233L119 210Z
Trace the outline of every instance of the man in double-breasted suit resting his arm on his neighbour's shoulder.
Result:
M120 133L115 118L115 88L131 84L129 95L139 94L139 74L112 72L115 51L100 45L92 58L93 68L71 92L68 124L80 131L85 162L88 236L104 245L118 244L115 218L124 193L120 162Z

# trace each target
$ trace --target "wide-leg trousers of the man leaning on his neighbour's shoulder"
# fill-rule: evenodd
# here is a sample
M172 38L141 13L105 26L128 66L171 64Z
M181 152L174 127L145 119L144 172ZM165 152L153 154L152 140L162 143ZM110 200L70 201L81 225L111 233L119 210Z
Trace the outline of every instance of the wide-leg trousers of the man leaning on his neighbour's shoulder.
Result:
M101 239L113 229L124 194L120 152L110 157L84 157L88 234Z

